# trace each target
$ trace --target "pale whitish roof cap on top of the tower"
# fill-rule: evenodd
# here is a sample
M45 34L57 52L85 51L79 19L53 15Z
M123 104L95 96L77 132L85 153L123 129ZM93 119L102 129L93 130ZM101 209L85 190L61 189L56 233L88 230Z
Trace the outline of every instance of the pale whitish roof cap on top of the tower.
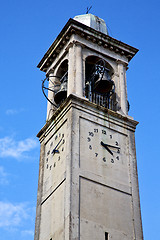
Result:
M91 27L99 32L102 32L108 35L105 21L93 14L89 13L84 15L78 15L78 16L75 16L73 19L87 25L88 27Z

